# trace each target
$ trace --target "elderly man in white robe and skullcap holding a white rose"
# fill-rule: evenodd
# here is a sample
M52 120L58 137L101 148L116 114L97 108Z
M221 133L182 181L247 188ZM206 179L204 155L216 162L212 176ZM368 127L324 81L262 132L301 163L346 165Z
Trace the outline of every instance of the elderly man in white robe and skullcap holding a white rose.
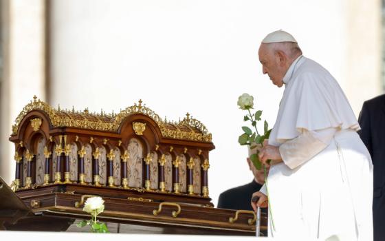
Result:
M373 165L336 79L282 30L263 39L259 61L274 85L285 85L276 123L259 150L270 173L252 202L254 210L269 205L269 235L373 240Z

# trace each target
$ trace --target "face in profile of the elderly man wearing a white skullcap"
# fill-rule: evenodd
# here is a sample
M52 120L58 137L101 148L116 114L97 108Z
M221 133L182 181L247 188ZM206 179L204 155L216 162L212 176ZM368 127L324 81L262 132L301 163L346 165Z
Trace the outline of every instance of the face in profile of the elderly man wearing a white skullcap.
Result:
M275 54L273 50L270 50L266 43L261 44L258 55L259 61L262 64L263 74L267 74L274 85L282 87L282 79L286 73L284 60L278 54Z

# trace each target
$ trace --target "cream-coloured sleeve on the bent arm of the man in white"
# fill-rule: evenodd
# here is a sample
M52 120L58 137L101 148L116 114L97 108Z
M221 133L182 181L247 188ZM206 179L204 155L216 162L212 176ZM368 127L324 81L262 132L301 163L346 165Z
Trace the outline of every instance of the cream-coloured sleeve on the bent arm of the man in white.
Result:
M290 169L303 165L329 145L336 131L332 127L311 132L305 129L298 137L279 147L283 163Z

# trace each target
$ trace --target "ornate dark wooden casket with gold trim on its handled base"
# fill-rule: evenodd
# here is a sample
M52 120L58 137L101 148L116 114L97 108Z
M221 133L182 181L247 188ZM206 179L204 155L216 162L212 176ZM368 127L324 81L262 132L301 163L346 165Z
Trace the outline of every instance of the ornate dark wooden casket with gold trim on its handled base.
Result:
M255 235L254 212L210 202L212 136L189 114L162 121L142 101L119 114L76 112L35 96L10 141L17 163L12 188L30 213L4 222L5 229L76 231L74 221L89 218L85 200L100 196L105 209L98 219L110 231ZM266 230L265 216L261 222Z

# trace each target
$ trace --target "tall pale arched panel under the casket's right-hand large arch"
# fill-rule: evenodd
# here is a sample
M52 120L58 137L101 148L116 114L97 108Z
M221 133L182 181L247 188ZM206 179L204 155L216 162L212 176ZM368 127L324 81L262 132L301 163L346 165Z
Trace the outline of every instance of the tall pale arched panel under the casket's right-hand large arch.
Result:
M132 138L128 146L129 162L127 163L127 176L129 187L142 187L142 159L143 147L139 140Z

